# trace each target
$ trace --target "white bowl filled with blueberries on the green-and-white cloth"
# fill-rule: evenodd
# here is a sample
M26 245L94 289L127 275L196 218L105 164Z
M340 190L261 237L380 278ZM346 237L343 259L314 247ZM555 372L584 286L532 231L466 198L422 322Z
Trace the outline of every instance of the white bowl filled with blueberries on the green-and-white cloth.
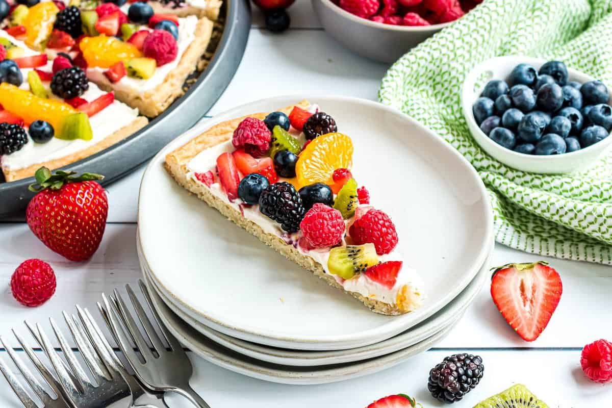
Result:
M512 168L562 174L612 145L608 88L562 61L494 57L466 77L461 104L474 139Z

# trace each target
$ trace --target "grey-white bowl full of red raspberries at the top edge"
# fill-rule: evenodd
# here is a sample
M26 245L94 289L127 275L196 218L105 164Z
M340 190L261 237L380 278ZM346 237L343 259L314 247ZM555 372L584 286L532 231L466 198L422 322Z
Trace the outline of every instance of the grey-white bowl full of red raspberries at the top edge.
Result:
M482 0L312 0L323 28L349 50L395 62Z

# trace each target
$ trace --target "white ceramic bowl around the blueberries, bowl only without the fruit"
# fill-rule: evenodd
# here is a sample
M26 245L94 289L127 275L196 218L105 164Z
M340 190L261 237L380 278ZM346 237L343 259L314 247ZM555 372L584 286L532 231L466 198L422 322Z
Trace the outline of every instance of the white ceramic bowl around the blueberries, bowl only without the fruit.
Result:
M584 169L597 161L603 154L610 150L612 137L608 137L595 143L592 146L578 150L577 152L565 153L552 156L536 156L522 154L506 149L491 140L480 130L479 125L474 119L472 105L480 96L483 87L492 79L507 80L512 69L518 64L525 63L532 65L539 70L547 62L545 59L537 59L526 56L505 56L494 57L476 65L466 76L461 90L461 105L463 114L468 122L468 127L474 139L485 152L512 168L542 174L562 174ZM577 70L567 69L569 81L585 83L595 78L578 72ZM479 81L480 80L480 81ZM478 86L477 86L478 83Z

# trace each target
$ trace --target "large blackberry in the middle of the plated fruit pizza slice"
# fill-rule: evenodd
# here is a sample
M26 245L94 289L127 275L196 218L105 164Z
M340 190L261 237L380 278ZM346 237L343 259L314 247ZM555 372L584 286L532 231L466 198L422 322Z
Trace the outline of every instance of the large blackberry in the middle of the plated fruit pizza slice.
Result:
M259 211L279 223L286 232L297 232L306 213L296 189L284 181L271 184L261 191Z

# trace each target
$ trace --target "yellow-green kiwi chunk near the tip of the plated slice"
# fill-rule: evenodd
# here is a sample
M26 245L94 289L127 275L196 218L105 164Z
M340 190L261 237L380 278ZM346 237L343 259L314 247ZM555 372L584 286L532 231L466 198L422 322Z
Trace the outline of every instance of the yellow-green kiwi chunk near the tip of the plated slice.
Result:
M327 259L329 273L343 279L351 279L376 264L378 255L373 243L332 248Z

